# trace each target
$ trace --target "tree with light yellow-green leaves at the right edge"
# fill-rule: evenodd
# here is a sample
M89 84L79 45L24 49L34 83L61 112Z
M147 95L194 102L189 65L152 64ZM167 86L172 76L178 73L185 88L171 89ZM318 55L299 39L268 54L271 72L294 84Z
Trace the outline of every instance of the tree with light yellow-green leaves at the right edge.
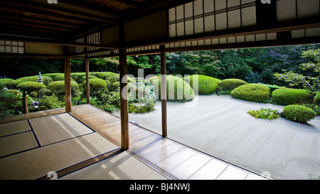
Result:
M292 71L284 70L284 73L275 73L274 77L277 80L284 80L291 86L304 85L309 88L312 92L319 91L319 80L320 80L320 48L311 49L302 53L302 58L309 58L309 63L302 63L299 68L302 70L311 70L316 74L304 75Z

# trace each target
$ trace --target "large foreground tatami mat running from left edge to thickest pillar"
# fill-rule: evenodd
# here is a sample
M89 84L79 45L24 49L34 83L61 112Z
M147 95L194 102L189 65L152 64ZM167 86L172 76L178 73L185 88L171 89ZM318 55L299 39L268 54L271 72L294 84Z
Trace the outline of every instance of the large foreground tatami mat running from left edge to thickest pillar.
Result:
M92 133L0 158L0 179L36 179L118 149Z

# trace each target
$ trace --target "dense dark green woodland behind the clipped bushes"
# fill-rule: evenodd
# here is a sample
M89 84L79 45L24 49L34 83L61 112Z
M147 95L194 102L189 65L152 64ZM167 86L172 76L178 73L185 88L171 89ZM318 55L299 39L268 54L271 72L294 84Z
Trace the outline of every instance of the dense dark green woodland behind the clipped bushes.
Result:
M206 50L167 53L167 74L208 75L218 79L239 78L247 82L286 85L274 79L275 72L292 71L309 74L299 68L307 63L302 51L320 48L320 45L292 45L270 48ZM139 55L127 58L128 73L137 77L138 69L144 76L160 73L159 55ZM118 58L90 60L90 72L119 72ZM53 58L0 58L0 77L17 79L41 73L63 72L63 59ZM85 72L84 60L71 60L71 72ZM316 75L317 76L317 75Z

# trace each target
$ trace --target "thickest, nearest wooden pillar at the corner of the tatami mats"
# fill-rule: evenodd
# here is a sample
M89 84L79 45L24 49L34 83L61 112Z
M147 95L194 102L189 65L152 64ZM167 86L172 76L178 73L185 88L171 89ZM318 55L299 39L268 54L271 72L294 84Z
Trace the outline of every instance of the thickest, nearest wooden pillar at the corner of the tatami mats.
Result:
M120 69L120 110L121 110L121 148L129 149L129 109L127 89L127 50L119 49Z

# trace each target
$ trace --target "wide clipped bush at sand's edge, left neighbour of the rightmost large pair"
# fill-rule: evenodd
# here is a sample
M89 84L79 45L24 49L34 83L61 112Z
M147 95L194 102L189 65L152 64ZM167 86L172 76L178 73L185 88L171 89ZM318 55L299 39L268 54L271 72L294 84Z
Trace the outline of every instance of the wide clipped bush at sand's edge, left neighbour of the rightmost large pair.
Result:
M241 85L231 92L231 97L250 102L265 102L270 99L270 88L257 84Z

